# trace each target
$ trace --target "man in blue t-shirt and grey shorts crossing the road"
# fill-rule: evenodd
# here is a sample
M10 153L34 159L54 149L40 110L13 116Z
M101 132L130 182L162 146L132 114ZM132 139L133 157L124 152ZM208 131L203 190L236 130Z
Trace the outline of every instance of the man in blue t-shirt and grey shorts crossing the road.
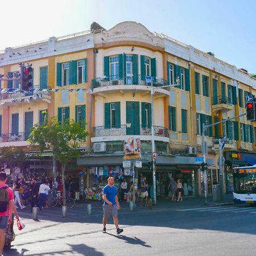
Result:
M103 189L103 199L104 199L104 205L103 205L103 233L106 233L106 221L108 220L108 217L110 214L112 214L115 228L117 228L117 234L120 234L123 232L123 229L119 229L118 227L118 218L117 218L117 210L120 209L120 205L118 202L117 197L117 188L113 186L114 184L114 178L109 177L108 178L108 185L106 185Z

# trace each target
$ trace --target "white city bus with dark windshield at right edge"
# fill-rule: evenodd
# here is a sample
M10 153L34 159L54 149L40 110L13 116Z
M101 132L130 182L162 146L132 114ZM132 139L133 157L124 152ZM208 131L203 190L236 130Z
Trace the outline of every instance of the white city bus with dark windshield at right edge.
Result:
M256 164L233 168L233 196L235 203L256 204Z

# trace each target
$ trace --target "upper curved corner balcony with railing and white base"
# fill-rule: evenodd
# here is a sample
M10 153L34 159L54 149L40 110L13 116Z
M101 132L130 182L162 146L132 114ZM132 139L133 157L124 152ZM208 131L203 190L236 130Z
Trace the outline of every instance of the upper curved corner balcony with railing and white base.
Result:
M136 89L148 89L148 85L146 84L146 76L142 75L131 75L131 76L105 76L105 77L97 77L96 79L92 79L91 89L94 91L94 89L101 88L104 90L104 88L115 90L115 89L133 89L133 86L136 86ZM168 85L168 82L164 79L159 79L157 77L153 77L153 86L158 88L160 86L166 86ZM112 87L113 86L113 87ZM139 88L139 86L141 86ZM147 87L146 87L147 86ZM148 89L150 90L150 88ZM168 90L170 90L169 87L163 88L163 92L168 94Z

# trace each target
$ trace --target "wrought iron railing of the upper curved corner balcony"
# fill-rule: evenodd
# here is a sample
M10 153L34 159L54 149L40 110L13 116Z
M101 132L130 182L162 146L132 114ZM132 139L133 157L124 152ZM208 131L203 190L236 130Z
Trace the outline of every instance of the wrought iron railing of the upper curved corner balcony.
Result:
M92 89L100 88L112 85L146 85L146 76L131 75L131 76L106 76L92 79ZM153 86L159 87L168 85L168 82L164 79L158 79L153 77ZM170 88L164 88L170 90Z

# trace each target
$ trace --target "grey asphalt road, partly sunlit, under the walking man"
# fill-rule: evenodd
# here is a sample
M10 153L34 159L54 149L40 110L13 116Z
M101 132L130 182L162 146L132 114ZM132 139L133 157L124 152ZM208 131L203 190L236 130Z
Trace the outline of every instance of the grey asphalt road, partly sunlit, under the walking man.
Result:
M3 255L255 255L256 208L168 202L131 212L127 203L121 206L122 236L111 219L102 233L101 202L92 204L90 215L86 204L78 204L67 218L61 208L44 209L40 221L19 210L26 228L15 226L13 246Z

